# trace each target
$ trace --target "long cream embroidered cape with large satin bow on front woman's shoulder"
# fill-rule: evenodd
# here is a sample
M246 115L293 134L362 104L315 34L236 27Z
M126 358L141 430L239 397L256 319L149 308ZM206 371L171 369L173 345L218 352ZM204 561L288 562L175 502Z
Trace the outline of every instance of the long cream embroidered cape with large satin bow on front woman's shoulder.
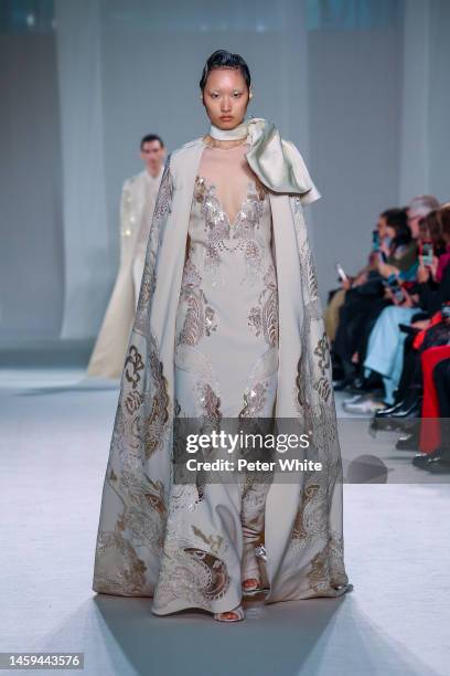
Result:
M296 419L312 433L323 464L320 472L299 474L298 483L270 486L265 547L271 589L266 601L336 596L351 589L343 562L342 462L329 346L302 212L302 202L319 193L293 144L280 141L271 123L259 122L254 130L247 159L271 187L279 302L276 416ZM280 142L287 162L277 165ZM197 138L168 157L158 194L103 490L93 581L101 593L153 596L164 566L175 315L204 147ZM275 163L267 163L270 154Z

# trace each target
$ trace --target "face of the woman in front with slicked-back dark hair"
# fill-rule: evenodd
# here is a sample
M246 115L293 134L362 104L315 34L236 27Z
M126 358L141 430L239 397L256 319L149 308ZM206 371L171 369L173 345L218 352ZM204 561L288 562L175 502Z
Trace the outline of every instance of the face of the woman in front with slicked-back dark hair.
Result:
M248 87L239 68L213 68L203 91L210 120L219 129L234 129L247 112Z

